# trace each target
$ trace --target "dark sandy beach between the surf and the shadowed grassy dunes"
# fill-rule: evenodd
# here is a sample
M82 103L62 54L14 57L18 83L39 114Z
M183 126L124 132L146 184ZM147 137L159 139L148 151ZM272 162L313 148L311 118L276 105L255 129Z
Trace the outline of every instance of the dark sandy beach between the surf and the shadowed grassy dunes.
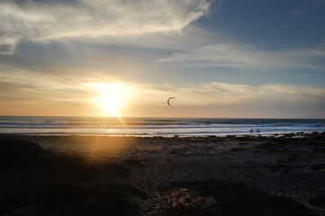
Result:
M325 213L324 132L270 137L4 137L29 140L50 152L126 167L130 176L123 183L146 194L146 198L130 198L140 215L164 215L159 213L166 209L168 190L169 200L173 200L171 192L193 200L204 198L211 211L219 212L220 198L200 192L200 186L179 185L204 187L209 182L245 185L258 193L293 200L316 215Z

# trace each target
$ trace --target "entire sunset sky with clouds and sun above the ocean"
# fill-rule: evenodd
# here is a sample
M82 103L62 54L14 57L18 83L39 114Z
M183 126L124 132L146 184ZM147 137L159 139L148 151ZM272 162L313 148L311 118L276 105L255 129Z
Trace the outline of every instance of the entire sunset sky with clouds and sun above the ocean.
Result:
M0 10L0 115L325 118L325 0Z

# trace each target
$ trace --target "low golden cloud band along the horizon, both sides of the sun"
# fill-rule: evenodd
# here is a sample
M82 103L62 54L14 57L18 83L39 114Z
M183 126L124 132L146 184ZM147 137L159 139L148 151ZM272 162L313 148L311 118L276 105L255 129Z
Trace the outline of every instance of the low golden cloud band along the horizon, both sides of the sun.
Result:
M99 83L96 84L96 86ZM103 83L110 85L112 83ZM324 118L325 89L306 85L240 85L221 82L148 85L121 82L136 89L122 116ZM52 85L50 85L52 86ZM0 81L2 114L101 115L92 83L50 87ZM176 97L173 108L167 98Z

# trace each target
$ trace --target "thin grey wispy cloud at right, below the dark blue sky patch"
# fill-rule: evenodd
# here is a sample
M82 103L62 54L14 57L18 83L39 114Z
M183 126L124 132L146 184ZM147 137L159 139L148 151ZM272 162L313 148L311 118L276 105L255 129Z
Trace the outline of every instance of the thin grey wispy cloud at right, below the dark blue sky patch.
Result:
M321 49L293 49L266 51L249 45L224 43L176 52L167 58L158 59L178 67L225 67L225 68L294 68L319 69L309 58L325 58Z

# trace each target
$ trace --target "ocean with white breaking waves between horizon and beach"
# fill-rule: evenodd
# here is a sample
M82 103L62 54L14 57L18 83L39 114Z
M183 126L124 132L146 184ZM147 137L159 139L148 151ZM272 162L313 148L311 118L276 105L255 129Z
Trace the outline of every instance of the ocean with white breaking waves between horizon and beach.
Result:
M119 120L104 117L0 116L0 134L169 137L273 135L314 131L325 131L324 119L122 118Z

